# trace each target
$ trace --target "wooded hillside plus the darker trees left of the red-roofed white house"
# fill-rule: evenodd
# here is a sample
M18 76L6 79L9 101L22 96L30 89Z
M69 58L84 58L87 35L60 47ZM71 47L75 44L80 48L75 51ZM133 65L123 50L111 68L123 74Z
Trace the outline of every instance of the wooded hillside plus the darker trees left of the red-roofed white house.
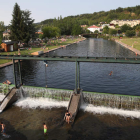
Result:
M94 12L93 14L81 14L76 16L68 16L62 18L62 16L57 19L47 19L42 21L39 25L36 25L37 29L42 26L54 26L60 28L61 35L77 35L79 33L86 32L87 30L82 30L80 25L97 25L100 22L110 23L113 19L123 20L123 19L140 19L140 5L135 7L127 8L117 8L110 11L100 11ZM78 30L76 30L77 28Z

